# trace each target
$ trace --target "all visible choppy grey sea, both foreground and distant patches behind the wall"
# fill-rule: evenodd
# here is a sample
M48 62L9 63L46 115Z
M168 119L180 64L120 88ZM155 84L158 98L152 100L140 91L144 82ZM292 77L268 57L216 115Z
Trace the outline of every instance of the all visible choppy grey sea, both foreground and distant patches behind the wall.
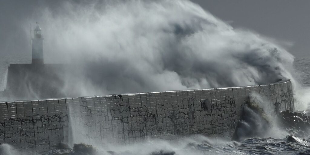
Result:
M0 91L5 89L7 67L10 63L30 63L23 57L0 58ZM310 88L310 57L296 57L294 78L304 88ZM273 129L277 131L277 128ZM84 150L83 150L84 149ZM1 155L13 155L8 145L0 145ZM297 137L289 133L266 137L255 137L243 141L224 141L204 136L176 141L147 140L143 143L119 146L87 146L82 150L52 149L44 155L206 155L206 154L310 154L309 136Z

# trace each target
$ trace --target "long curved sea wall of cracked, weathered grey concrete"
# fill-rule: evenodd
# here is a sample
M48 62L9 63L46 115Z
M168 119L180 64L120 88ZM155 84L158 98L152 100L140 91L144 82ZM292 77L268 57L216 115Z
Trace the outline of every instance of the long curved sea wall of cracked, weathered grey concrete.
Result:
M289 79L258 86L1 102L0 143L40 154L78 138L96 144L193 134L231 139L252 94L268 101L267 113L294 109Z

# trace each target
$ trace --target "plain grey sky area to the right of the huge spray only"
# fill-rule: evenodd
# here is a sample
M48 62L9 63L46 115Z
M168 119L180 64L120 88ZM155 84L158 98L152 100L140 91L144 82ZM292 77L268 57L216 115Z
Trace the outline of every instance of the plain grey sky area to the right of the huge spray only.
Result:
M310 56L309 0L191 0L233 27L284 42L295 56Z

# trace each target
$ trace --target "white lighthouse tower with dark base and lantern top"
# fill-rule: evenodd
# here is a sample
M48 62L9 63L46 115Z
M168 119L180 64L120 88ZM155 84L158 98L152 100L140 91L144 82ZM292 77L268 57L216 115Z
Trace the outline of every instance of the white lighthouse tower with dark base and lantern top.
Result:
M32 64L43 64L43 35L39 23L34 29L32 40Z

